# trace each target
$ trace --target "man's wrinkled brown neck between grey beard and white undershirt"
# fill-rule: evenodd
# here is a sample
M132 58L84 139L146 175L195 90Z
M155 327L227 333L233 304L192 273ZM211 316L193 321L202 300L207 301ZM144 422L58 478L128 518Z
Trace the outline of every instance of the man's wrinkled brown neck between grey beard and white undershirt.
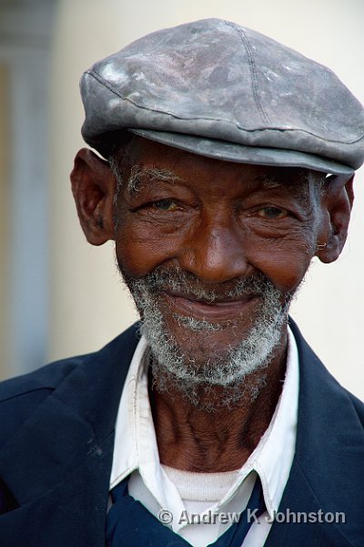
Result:
M278 383L284 378L284 366ZM253 378L249 378L249 382ZM273 378L270 378L273 380ZM275 378L276 379L276 378ZM240 461L248 459L250 453L258 445L259 439L265 432L262 424L266 423L273 414L277 400L275 389L266 384L262 389L262 397L266 397L266 404L251 405L248 399L241 401L240 416L244 416L241 423L235 423L235 416L227 409L218 413L218 428L211 428L208 415L197 408L190 407L182 402L181 414L185 419L175 421L175 411L171 399L163 398L161 405L154 408L154 419L157 425L158 446L166 446L167 462L177 469L186 469L195 472L224 472L238 469ZM214 415L217 421L217 416ZM173 420L175 427L169 428ZM236 427L238 426L238 427ZM190 450L190 439L194 439L194 458L184 457ZM190 453L190 452L189 452ZM241 464L242 465L242 464Z

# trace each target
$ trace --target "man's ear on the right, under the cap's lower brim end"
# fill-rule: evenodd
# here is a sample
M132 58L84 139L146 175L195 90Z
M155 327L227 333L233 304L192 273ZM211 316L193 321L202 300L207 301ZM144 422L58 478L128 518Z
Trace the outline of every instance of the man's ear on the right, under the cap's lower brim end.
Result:
M322 263L337 260L347 240L350 213L354 201L354 175L331 175L321 196L322 226L316 256Z

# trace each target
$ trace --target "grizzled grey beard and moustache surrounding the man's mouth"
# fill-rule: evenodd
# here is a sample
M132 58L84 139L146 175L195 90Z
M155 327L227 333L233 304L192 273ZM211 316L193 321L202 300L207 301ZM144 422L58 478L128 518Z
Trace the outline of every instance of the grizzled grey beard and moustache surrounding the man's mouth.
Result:
M288 298L286 304L282 304L282 294L266 275L256 274L221 284L218 293L207 290L195 275L180 270L164 272L156 269L139 279L127 278L125 274L123 277L142 317L140 331L147 339L154 386L159 392L177 389L192 405L207 410L231 407L247 395L250 399L258 397L266 383L264 369L272 359L282 327L288 320ZM221 294L223 286L226 290ZM211 304L218 298L259 294L261 304L258 317L244 339L239 340L236 346L227 346L223 352L217 353L213 345L208 344L208 338L214 332L235 329L238 320L210 323L174 314L174 320L179 327L186 329L187 334L199 333L201 339L207 341L203 362L197 361L194 350L188 344L184 344L183 348L178 346L168 330L160 309L160 293L167 289L182 291ZM254 381L247 382L257 370L262 373Z

